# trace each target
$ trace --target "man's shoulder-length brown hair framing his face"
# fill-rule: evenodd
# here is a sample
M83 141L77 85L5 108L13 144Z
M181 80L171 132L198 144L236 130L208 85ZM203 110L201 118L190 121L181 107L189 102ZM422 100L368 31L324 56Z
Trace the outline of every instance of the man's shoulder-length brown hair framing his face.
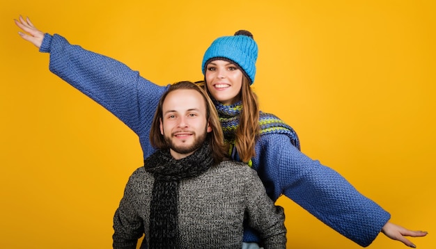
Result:
M212 148L212 156L215 163L220 163L221 161L227 159L228 155L228 145L224 144L224 134L221 129L221 124L219 122L217 109L212 100L205 91L197 86L191 81L180 81L173 83L169 86L168 90L162 95L157 105L155 112L155 117L151 124L150 129L150 144L159 150L169 149L168 143L166 143L164 136L160 133L160 121L163 120L162 106L166 99L166 96L176 90L196 90L203 96L205 106L206 106L206 119L209 122L212 131L208 133L208 138L210 139L210 146Z

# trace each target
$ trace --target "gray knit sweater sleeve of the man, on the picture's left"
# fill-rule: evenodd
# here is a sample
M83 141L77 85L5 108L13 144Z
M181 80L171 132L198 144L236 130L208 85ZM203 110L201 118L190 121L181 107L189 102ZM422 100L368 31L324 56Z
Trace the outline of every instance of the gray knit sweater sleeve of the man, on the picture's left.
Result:
M141 238L144 228L143 221L138 214L138 184L135 177L138 170L132 174L125 186L123 199L114 215L113 246L117 249L135 249L138 239Z

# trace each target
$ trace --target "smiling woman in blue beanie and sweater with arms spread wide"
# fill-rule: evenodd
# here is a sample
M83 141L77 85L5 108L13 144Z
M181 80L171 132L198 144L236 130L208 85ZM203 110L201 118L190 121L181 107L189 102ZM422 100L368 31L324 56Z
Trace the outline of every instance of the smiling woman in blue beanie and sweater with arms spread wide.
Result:
M50 53L49 69L54 74L111 111L139 136L144 158L154 152L148 136L149 114L168 86L157 86L119 61L70 45L61 35L42 33L29 18L20 17L15 24L26 32L20 32L24 40ZM248 33L238 34L212 42L202 63L205 86L223 118L226 139L234 145L231 158L257 170L272 200L286 195L361 246L368 246L381 231L414 247L405 236L425 236L426 232L389 223L387 211L337 172L302 154L292 128L274 115L259 113L250 88L258 47ZM272 129L267 125L270 120ZM244 241L256 243L258 236L247 228Z

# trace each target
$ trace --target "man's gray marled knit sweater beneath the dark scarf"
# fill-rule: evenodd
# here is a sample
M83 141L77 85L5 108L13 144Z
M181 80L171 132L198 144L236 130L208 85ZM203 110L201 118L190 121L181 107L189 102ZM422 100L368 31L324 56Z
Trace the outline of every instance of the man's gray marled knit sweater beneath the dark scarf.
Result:
M129 179L114 216L114 248L136 248L146 234L154 177L141 167ZM264 248L286 248L283 208L274 206L255 170L224 161L178 191L179 248L241 248L244 216Z

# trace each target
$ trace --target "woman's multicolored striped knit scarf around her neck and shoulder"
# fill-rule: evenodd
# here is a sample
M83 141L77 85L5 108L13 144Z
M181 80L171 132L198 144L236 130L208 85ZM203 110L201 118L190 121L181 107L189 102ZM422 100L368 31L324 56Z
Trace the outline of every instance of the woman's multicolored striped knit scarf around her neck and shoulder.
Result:
M232 105L224 105L218 102L215 99L212 99L217 108L219 115L219 122L221 122L221 127L224 131L224 139L226 143L231 145L230 156L231 159L240 161L238 153L235 148L235 131L239 125L239 115L242 110L242 103L237 102ZM297 133L294 131L292 127L283 122L277 116L270 113L259 112L259 125L260 125L260 136L264 134L286 134L290 143L292 143L298 150L299 147L299 139ZM249 162L251 166L251 161Z

